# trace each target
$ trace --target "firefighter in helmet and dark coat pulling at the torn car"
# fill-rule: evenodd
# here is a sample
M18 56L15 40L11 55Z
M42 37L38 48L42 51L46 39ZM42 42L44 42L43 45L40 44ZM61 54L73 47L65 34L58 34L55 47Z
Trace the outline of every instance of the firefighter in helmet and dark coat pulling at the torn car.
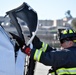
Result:
M76 46L74 40L76 33L72 30L63 30L60 33L60 43L62 50L56 50L35 37L33 40L34 48L30 50L27 46L22 46L22 52L30 55L30 58L52 66L50 75L75 75L76 74Z

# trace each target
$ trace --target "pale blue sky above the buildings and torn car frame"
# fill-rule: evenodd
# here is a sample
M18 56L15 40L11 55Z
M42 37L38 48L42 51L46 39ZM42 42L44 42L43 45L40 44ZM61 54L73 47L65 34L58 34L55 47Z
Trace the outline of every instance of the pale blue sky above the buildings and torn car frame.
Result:
M1 0L0 16L23 2L28 3L38 14L38 19L61 19L67 10L76 16L76 0Z

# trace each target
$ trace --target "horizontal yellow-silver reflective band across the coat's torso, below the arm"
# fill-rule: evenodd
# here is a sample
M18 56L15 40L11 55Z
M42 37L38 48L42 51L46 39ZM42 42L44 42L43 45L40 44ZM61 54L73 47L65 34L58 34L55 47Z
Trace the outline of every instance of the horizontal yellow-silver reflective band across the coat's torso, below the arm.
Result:
M58 75L62 74L76 74L76 68L61 68L56 71Z

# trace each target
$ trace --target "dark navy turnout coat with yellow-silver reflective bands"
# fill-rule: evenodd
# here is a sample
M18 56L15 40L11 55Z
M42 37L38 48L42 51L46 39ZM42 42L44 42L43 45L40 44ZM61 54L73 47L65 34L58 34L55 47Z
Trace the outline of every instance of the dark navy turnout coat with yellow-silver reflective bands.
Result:
M52 66L52 75L76 74L76 47L56 50L42 42L42 48L31 51L31 59Z

